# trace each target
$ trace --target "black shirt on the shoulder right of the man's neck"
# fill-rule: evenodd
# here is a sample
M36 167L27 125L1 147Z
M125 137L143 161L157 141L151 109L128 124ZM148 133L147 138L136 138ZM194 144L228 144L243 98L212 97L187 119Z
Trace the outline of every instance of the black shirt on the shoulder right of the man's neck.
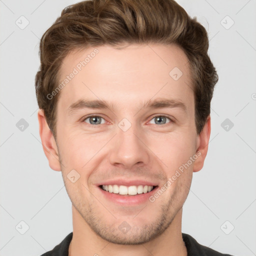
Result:
M223 254L209 247L199 244L191 235L182 233L183 241L186 245L187 256L232 256Z

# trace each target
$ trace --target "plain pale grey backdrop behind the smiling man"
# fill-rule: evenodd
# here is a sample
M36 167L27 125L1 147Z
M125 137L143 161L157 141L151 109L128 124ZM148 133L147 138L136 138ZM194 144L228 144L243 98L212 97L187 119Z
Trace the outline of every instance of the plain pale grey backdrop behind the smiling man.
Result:
M34 76L39 38L75 2L0 0L0 256L40 255L72 231L61 173L49 168L40 142ZM256 255L256 2L178 3L206 27L219 75L208 154L203 169L193 174L182 232L220 252ZM23 131L21 118L28 124Z

